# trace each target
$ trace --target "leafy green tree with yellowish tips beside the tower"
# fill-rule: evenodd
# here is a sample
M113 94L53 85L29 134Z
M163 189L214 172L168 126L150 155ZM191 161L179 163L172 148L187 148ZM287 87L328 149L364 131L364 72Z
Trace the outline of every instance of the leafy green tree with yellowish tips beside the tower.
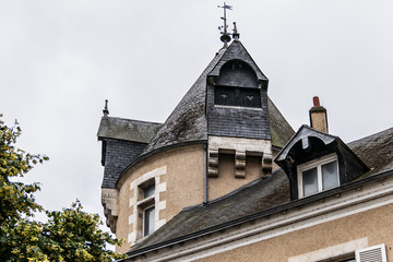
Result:
M45 211L34 198L39 183L19 181L47 156L15 147L21 128L9 128L0 115L0 261L112 261L123 258L106 248L121 245L99 229L97 214L83 211L76 201L70 209ZM48 221L34 221L45 211Z

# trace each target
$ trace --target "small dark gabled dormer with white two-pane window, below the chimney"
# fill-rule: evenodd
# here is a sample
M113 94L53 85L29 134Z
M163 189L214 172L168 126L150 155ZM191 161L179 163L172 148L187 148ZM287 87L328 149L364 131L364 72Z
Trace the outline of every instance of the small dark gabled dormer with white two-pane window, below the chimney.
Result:
M296 200L350 182L369 168L337 136L302 126L275 158Z

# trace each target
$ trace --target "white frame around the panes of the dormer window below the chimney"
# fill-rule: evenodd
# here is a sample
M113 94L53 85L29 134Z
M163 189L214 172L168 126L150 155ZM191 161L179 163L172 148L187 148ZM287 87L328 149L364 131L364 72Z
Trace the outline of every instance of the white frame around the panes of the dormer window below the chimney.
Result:
M313 159L313 160L310 160L310 162L307 162L307 163L303 163L303 164L297 166L297 180L298 180L298 192L299 192L298 195L299 195L299 199L312 195L312 194L309 194L309 195L303 194L302 172L305 172L307 170L310 170L312 168L317 168L318 191L315 193L320 193L320 192L324 191L323 187L322 187L323 184L322 184L322 171L321 171L321 168L322 168L323 165L326 165L326 164L330 164L330 163L333 163L333 162L336 162L336 170L337 170L337 186L336 187L340 187L338 158L337 158L337 155L335 153L319 157L317 159ZM315 194L315 193L313 193L313 194Z

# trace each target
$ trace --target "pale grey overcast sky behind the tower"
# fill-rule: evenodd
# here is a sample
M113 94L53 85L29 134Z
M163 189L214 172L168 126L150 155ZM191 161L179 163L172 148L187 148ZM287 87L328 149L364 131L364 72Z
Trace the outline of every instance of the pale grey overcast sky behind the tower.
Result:
M0 0L0 112L19 146L50 157L28 175L38 202L100 206L110 116L165 121L222 47L216 0ZM393 126L393 1L231 0L228 20L297 130L312 96L349 142Z

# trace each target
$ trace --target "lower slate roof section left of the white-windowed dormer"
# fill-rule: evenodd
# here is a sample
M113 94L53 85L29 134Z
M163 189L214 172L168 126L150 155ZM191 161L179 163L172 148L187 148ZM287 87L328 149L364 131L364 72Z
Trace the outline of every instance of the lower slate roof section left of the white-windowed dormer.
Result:
M269 177L257 179L229 194L209 202L209 204L186 207L130 251L192 235L279 205L289 201L288 192L289 183L286 175L279 169Z

